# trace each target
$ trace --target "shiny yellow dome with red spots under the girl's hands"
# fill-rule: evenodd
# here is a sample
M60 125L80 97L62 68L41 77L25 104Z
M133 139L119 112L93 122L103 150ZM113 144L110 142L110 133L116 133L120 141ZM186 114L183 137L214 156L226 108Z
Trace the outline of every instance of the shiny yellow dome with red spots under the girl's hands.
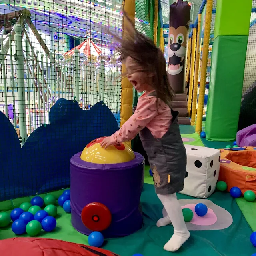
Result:
M119 164L129 162L135 158L134 152L126 143L104 149L100 146L102 140L103 137L90 142L84 148L80 158L94 164Z

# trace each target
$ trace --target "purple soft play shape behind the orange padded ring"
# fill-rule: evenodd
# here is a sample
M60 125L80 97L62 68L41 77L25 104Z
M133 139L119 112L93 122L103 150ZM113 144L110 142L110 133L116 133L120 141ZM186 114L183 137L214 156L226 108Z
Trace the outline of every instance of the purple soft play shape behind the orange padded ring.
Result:
M256 124L248 126L236 134L236 143L238 146L256 147Z

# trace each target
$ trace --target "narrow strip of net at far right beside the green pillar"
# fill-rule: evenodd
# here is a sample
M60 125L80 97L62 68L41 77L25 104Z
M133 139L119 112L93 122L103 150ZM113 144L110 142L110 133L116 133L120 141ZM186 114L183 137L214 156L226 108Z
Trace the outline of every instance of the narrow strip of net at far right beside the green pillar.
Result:
M256 1L253 1L253 7ZM255 8L252 9L254 11ZM256 13L251 13L238 130L256 123Z

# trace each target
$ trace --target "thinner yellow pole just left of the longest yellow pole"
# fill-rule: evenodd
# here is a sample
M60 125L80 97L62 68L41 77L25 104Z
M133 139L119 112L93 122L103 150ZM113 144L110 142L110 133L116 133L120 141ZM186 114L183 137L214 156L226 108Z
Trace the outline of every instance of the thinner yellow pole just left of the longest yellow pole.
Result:
M194 69L195 69L195 55L196 55L196 28L193 28L192 49L191 49L191 70L190 70L189 90L188 90L188 116L191 115L191 103L192 103Z

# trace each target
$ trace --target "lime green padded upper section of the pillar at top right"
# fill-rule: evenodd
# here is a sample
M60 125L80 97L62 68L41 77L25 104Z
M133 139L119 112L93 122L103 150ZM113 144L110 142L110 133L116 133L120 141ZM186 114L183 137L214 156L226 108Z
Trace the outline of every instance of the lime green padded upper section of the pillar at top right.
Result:
M218 0L214 38L217 36L248 36L252 0Z

